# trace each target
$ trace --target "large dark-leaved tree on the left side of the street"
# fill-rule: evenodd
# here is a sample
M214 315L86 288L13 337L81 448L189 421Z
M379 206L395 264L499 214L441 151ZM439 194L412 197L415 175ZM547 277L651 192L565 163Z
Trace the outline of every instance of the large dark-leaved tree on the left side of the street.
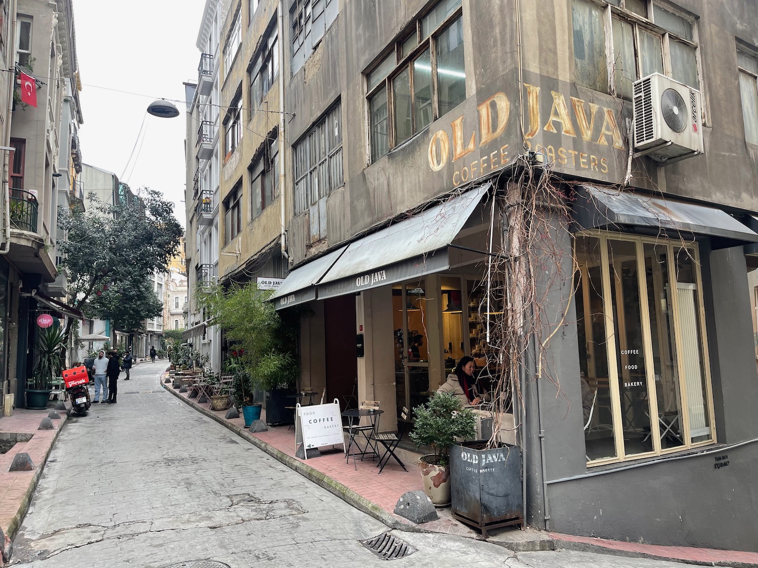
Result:
M123 203L106 204L92 194L90 199L91 211L61 208L58 214L58 227L67 234L59 268L67 276L68 304L88 317L114 317L124 329L139 329L136 321L157 315L155 295L146 290L149 278L166 270L183 235L174 204L147 188ZM73 321L66 324L67 342Z

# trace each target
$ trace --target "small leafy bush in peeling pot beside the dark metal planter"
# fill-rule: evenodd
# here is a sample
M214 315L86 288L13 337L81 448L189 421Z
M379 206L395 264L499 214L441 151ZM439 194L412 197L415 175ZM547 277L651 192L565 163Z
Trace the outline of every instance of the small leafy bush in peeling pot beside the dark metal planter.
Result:
M429 400L413 410L411 439L418 447L431 446L434 454L421 456L418 466L426 493L435 507L450 504L449 448L456 438L475 435L475 417L471 409L447 392L435 392Z

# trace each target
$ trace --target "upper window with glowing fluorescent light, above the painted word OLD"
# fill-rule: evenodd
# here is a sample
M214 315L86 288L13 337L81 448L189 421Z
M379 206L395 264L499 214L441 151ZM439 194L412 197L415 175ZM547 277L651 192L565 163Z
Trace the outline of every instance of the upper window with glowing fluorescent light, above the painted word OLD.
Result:
M438 2L402 37L366 75L371 162L466 98L461 0Z

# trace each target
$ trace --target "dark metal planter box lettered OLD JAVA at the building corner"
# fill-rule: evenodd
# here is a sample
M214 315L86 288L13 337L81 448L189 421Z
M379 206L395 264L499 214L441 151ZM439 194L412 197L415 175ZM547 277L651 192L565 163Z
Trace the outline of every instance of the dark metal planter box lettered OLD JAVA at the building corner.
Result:
M481 530L524 527L521 448L503 445L484 450L486 442L450 447L450 499L453 517Z

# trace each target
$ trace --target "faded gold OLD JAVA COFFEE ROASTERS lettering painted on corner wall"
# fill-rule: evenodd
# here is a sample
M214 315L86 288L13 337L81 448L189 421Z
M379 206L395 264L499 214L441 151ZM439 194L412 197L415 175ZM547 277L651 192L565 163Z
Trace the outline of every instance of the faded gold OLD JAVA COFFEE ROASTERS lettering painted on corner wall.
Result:
M553 145L535 144L533 146L529 139L537 136L540 130L544 130L572 138L581 136L584 142L598 145L601 147L600 149L612 146L617 150L623 150L625 148L621 131L616 123L615 110L601 107L593 102L587 104L581 98L569 97L572 108L572 112L569 112L565 96L562 93L550 91L552 99L550 115L543 123L540 102L544 101L544 97L540 97L540 87L524 83L524 88L526 89L528 118L528 125L525 126L528 128L525 139L527 139L528 147L534 151L544 151L549 161L555 161L560 165L571 164L571 167L607 173L608 158L604 156L572 150L563 146L558 148ZM547 100L550 101L551 99ZM544 104L546 104L545 108L547 109L547 103ZM510 110L509 98L504 92L498 92L477 106L478 130L471 129L470 126L470 130L467 130L463 123L463 116L450 123L450 131L437 130L429 140L429 167L435 172L440 171L449 160L452 159L453 162L456 162L478 149L479 151L475 154L476 159L468 158L467 161L462 162L461 167L456 168L453 172L453 185L459 186L461 183L484 175L487 171L497 170L506 165L510 160L508 145L497 145L492 144L492 142L496 142L500 135L505 132ZM484 151L485 146L487 146L487 151Z

